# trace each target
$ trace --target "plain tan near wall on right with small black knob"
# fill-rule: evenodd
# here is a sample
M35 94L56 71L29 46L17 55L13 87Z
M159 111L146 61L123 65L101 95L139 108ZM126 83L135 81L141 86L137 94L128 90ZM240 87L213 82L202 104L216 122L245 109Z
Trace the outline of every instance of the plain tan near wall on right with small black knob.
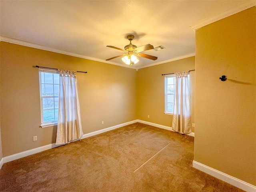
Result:
M255 186L255 6L196 31L195 123L194 160Z

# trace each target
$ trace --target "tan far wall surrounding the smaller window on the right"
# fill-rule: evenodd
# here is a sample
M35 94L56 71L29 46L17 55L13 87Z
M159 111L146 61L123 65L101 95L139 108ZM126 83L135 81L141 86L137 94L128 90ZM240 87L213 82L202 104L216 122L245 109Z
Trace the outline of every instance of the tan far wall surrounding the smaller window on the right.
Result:
M137 118L172 126L172 115L164 114L164 76L162 74L194 70L195 57L139 69L137 72ZM192 91L192 123L194 123L194 76L190 72ZM148 115L150 118L148 118ZM194 128L192 128L194 131Z

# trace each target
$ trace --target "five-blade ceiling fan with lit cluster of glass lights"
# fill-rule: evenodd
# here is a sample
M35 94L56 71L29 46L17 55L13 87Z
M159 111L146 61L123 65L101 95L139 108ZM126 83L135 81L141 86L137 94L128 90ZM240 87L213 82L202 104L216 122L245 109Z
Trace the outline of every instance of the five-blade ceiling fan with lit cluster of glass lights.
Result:
M136 45L133 45L132 40L134 39L134 35L128 35L127 39L130 41L130 44L126 45L124 47L124 49L114 47L114 46L110 46L110 45L107 46L107 47L110 47L110 48L114 48L114 49L124 51L125 53L121 54L121 55L118 55L118 56L114 56L114 57L109 58L109 59L106 59L106 61L117 58L117 57L124 56L122 58L122 61L125 64L128 64L128 65L132 66L133 64L136 64L139 61L136 56L144 57L144 58L151 59L151 60L157 60L156 56L141 53L142 51L154 49L154 47L152 45L146 44L146 45L143 45L143 46L140 46L140 47L137 47Z

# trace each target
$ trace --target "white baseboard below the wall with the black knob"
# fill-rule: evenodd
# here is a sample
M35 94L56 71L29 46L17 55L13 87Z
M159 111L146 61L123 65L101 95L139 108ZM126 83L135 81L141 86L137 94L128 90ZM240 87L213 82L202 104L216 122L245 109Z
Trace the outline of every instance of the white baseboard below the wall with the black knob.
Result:
M223 173L223 172L220 172L214 168L211 168L211 167L208 167L204 164L201 164L199 162L196 162L193 160L193 167L196 168L196 169L199 169L211 176L214 176L224 182L227 182L229 184L232 184L242 190L245 190L247 192L256 192L256 186L252 185L252 184L249 184L249 183L246 183L238 178L235 178L233 176L230 176L226 173Z

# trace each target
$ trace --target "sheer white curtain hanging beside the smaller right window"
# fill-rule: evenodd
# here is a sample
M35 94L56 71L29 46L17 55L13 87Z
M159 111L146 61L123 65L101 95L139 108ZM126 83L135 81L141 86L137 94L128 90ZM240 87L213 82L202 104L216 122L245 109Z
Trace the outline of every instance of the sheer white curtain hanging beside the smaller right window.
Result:
M191 102L188 74L189 71L175 73L176 86L174 93L172 129L175 132L180 133L191 133Z

